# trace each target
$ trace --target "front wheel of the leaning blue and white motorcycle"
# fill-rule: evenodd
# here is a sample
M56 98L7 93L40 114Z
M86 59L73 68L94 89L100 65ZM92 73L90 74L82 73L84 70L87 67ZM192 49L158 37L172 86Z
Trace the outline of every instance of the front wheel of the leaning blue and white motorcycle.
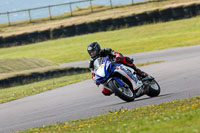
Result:
M109 86L112 89L112 91L115 93L115 95L117 95L122 100L127 101L127 102L134 101L135 91L128 84L126 84L125 82L123 82L123 83L125 85L122 87L119 85L119 83L117 81L112 79L109 82Z

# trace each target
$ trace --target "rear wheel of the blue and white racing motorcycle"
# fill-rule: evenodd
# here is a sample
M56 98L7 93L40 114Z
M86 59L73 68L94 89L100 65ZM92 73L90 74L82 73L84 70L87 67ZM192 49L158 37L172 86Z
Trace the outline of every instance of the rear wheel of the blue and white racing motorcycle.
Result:
M155 80L152 80L148 86L149 86L147 89L148 96L156 97L160 94L160 86Z

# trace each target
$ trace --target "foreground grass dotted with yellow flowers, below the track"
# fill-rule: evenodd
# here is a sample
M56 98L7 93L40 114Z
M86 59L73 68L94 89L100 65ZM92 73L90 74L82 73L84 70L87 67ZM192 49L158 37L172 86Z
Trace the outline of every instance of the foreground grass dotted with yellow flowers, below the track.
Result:
M109 112L24 131L62 133L199 133L200 97Z

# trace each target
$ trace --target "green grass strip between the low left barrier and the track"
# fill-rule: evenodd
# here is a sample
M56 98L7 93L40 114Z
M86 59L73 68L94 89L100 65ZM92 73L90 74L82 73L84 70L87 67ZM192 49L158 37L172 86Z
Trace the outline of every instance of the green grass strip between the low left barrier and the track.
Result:
M47 90L52 90L68 84L80 82L89 78L91 78L91 74L84 73L72 76L64 76L61 78L53 78L17 87L0 89L0 104Z

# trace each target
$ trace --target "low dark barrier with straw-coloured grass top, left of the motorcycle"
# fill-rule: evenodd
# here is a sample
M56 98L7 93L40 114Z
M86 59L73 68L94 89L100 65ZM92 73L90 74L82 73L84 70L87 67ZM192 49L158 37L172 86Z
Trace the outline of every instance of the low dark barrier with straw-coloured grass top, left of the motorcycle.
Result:
M0 89L13 86L29 84L37 81L63 77L67 75L76 75L89 72L88 68L73 67L45 67L22 72L14 72L0 75Z

